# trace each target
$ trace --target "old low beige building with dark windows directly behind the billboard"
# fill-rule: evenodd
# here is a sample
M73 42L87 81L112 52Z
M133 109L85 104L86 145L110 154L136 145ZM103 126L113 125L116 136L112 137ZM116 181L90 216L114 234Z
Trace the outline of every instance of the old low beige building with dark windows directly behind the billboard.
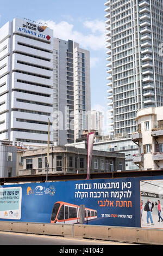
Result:
M23 169L19 176L46 174L78 174L87 172L87 150L74 146L47 147L23 152ZM125 171L125 156L122 153L92 151L91 172Z

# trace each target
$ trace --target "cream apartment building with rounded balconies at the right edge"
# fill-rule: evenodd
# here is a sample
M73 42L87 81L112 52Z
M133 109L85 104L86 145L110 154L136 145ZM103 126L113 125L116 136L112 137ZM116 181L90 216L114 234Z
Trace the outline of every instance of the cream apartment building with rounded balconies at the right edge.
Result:
M137 111L137 132L131 139L139 146L133 156L140 170L163 170L163 106Z

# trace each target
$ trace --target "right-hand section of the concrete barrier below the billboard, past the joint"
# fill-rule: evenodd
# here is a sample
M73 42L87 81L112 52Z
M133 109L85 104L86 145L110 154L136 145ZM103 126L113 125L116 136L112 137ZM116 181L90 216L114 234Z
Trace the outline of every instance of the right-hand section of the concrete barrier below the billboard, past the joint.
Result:
M163 229L74 225L73 237L163 245Z

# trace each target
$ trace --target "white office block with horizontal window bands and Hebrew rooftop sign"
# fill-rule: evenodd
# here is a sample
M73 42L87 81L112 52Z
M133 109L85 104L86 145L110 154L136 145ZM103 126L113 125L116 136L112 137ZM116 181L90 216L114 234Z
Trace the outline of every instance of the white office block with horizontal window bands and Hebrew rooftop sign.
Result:
M0 139L53 141L53 31L14 19L0 29Z

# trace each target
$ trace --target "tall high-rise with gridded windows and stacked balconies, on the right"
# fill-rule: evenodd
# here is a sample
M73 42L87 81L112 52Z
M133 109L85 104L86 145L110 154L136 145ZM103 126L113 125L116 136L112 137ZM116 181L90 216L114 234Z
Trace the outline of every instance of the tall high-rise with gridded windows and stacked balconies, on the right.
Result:
M136 130L136 111L163 104L162 0L109 0L106 11L110 132Z

